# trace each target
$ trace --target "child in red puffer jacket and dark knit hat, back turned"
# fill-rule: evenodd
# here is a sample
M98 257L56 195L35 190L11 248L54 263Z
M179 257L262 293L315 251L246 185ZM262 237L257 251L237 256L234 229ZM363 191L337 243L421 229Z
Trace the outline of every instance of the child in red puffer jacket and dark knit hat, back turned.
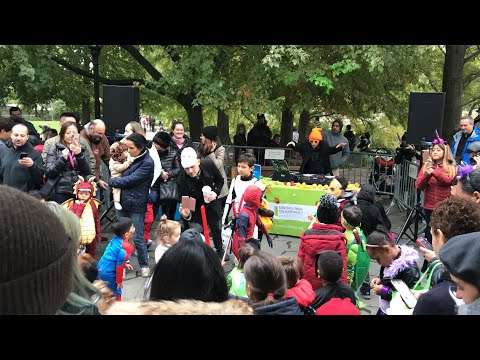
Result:
M300 247L298 248L298 262L303 271L301 277L312 284L313 290L321 288L322 281L315 271L316 256L325 250L338 251L343 260L343 272L340 281L348 284L347 276L347 238L343 234L343 228L336 225L339 218L337 199L331 194L325 194L320 198L317 209L318 222L313 223L312 228L300 235Z

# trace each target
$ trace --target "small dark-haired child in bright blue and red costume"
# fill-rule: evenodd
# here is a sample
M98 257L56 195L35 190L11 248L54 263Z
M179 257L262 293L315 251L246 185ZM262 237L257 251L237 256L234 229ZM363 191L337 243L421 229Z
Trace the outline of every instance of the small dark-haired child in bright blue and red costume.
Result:
M122 300L123 269L133 270L127 260L135 251L131 242L135 227L131 219L121 217L112 225L115 236L107 245L98 262L98 277L113 291L117 301Z

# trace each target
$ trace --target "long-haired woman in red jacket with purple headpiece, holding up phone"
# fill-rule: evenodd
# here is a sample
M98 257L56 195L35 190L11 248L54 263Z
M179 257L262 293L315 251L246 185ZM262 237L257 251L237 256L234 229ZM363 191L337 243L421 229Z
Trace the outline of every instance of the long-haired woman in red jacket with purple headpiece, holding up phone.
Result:
M415 187L425 190L425 220L427 227L425 228L425 237L431 243L432 235L430 234L430 216L437 204L448 198L451 192L451 186L457 175L455 166L455 158L452 155L447 142L438 136L432 141L433 146L430 149L430 157L423 164L418 172Z

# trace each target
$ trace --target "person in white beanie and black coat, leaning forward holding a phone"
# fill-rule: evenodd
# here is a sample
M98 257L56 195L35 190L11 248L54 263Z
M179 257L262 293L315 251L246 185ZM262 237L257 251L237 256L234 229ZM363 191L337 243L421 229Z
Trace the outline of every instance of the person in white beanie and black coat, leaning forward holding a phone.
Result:
M217 201L218 195L223 187L224 179L220 174L215 163L210 159L200 160L195 149L187 147L182 150L180 155L184 171L177 178L178 196L181 201L182 196L195 198L195 211L180 206L180 215L182 215L186 227L188 221L202 225L202 214L200 208L205 205L207 223L212 233L212 240L220 258L223 257L222 234L220 231L220 207ZM211 192L204 197L203 187L209 186ZM205 202L205 199L207 202ZM208 231L208 229L204 229ZM228 260L229 256L225 256Z

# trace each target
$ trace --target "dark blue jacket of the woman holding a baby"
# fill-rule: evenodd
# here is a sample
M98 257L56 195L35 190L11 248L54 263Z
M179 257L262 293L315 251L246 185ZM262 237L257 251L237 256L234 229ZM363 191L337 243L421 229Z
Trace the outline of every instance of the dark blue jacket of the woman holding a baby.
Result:
M111 187L122 189L120 204L125 211L146 212L148 190L153 180L153 159L145 149L120 178L110 178Z

